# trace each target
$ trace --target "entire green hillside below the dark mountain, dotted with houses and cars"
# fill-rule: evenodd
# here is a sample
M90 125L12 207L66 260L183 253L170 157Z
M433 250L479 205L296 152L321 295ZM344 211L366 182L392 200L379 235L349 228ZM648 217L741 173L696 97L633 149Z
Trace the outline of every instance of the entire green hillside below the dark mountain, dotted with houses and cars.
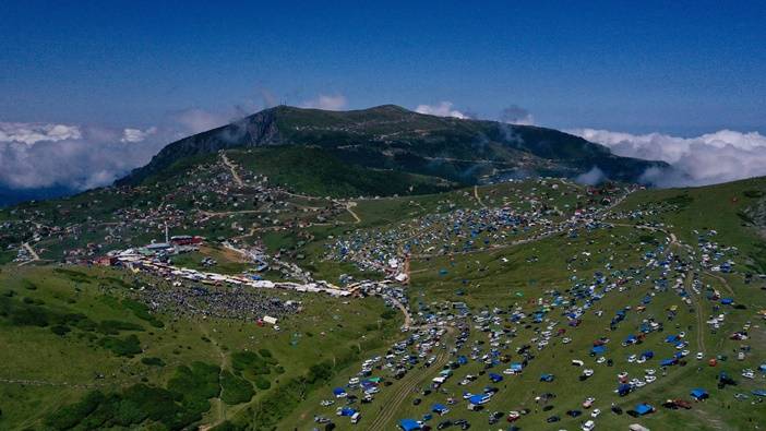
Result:
M442 121L459 122L426 117L418 127ZM199 154L139 185L0 211L0 428L308 431L327 420L386 430L424 419L486 429L498 412L494 429L512 411L536 430L588 419L599 429L749 430L766 420L756 395L766 179L465 187L349 164L347 149L322 145ZM142 262L218 278L96 264L161 242L166 224L205 240ZM232 276L279 287L224 278ZM354 295L303 291L319 280ZM597 344L606 351L591 354ZM504 372L515 363L520 373ZM623 372L634 383L620 396ZM733 381L719 386L721 372ZM374 392L352 379L371 379ZM488 386L496 395L469 410L463 393ZM336 398L337 387L357 398ZM709 399L692 402L694 388ZM663 407L668 399L691 409ZM655 411L630 416L641 403ZM450 411L434 415L434 405ZM342 407L359 423L337 416Z

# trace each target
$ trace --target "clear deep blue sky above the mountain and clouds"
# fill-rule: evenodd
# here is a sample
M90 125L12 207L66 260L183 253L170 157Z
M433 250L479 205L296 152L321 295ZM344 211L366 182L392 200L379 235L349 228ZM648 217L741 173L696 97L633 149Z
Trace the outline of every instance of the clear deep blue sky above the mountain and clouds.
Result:
M763 2L212 3L4 1L0 121L141 128L254 111L268 94L448 100L481 118L517 105L563 129L766 131Z

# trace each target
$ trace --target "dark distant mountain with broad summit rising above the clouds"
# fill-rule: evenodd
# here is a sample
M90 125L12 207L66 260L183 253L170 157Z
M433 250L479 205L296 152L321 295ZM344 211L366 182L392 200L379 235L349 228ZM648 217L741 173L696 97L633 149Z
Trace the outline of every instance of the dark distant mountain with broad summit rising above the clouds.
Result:
M173 142L117 184L141 183L189 156L283 145L312 146L348 164L463 184L575 177L594 167L610 179L635 182L647 168L667 166L619 157L605 146L553 129L427 116L393 105L352 111L279 106Z

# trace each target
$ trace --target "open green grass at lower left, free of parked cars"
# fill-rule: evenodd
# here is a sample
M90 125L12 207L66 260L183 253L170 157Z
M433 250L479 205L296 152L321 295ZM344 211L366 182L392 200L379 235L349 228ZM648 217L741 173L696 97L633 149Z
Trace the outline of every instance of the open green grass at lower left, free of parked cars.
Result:
M328 362L343 369L360 348L375 348L398 326L396 320L381 319L384 307L375 299L340 303L303 295L290 296L302 301L303 310L280 321L278 332L253 322L152 314L151 319L160 322L155 325L125 307L125 301L140 295L131 290L134 283L148 282L101 268L3 268L0 337L4 346L14 348L0 352L0 428L45 428L46 418L96 390L108 395L136 384L172 388L170 382L178 370L194 363L223 370L224 390L211 397L211 408L201 409L200 419L202 423L220 423L258 409L311 366ZM27 308L22 310L21 304ZM25 319L24 313L31 310L46 315L47 321ZM57 316L67 314L81 314L81 322L70 323L69 332L57 335L53 330L62 325ZM93 330L84 321L92 322ZM137 337L139 351L101 342L131 336ZM266 374L243 372L239 380L231 379L236 376L231 372L241 371L232 358L247 351L266 351L275 366ZM237 384L244 395L231 395ZM243 390L248 385L254 392L252 399Z

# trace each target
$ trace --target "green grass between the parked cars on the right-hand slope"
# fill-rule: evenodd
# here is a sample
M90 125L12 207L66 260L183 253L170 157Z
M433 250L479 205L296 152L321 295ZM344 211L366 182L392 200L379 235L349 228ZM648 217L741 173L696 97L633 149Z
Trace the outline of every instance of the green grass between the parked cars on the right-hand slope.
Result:
M629 199L620 206L620 209L634 209L642 207L642 204L647 202L660 202L679 194L687 194L692 196L687 205L673 207L673 209L661 213L658 216L647 216L647 219L644 222L663 223L666 226L672 226L671 230L673 232L693 246L696 244L694 229L716 228L719 231L717 241L737 244L741 248L743 254L747 254L759 250L757 244L761 243L761 240L754 236L754 230L751 227L743 226L737 213L753 203L752 200L744 196L744 191L752 189L763 190L766 181L764 179L756 179L702 189L645 191L636 193ZM375 214L380 213L375 212ZM394 222L394 219L390 222ZM574 265L574 268L577 270L576 274L579 277L585 277L585 279L593 276L595 271L605 271L603 265L607 262L612 263L615 267L643 266L644 263L638 258L644 252L654 249L650 244L641 244L642 240L647 240L648 237L654 237L657 243L667 241L666 237L659 232L648 234L644 230L629 227L615 227L610 231L597 231L590 235L581 232L577 239L555 237L534 246L460 255L454 260L441 258L415 261L412 262L414 279L410 288L411 304L417 310L420 306L427 306L432 301L460 300L469 303L474 310L482 307L504 308L512 304L522 304L526 311L530 311L536 307L528 301L536 300L544 290L551 288L563 290L571 286L570 277L572 273L566 270L567 259L578 255L584 250L594 253L593 259L583 261L581 256L578 263ZM598 252L599 250L602 250L602 252ZM534 256L542 256L542 259L537 262L528 261L528 259ZM507 259L507 263L503 262L501 258ZM612 259L610 260L609 258ZM447 268L447 275L440 274L442 268ZM649 291L651 286L645 282L642 286L633 287L624 294L612 292L600 301L596 309L605 310L602 318L598 319L593 313L589 313L578 328L567 328L567 336L573 337L572 344L563 345L560 338L554 338L551 346L536 354L538 358L531 362L523 375L515 378L505 376L505 381L499 384L501 387L499 397L488 405L487 410L508 411L527 407L532 409L532 412L519 422L519 426L525 429L574 429L578 428L579 423L585 419L582 417L572 419L564 415L564 411L582 409L579 403L586 396L596 396L597 407L607 410L602 415L609 422L609 429L624 429L627 428L629 423L634 422L641 422L650 429L667 429L669 427L684 430L752 429L754 423L763 422L766 419L763 411L759 406L752 406L750 402L737 402L733 398L733 394L740 392L750 393L754 388L763 387L763 381L747 381L739 376L741 369L756 369L758 364L766 360L763 350L759 350L757 347L762 346L766 338L763 330L756 323L758 320L756 312L766 308L763 291L758 289L763 282L745 285L741 274L726 276L725 278L728 285L734 289L735 300L747 304L749 309L746 311L730 312L725 326L717 334L711 334L705 324L699 326L697 315L687 310L681 302L680 297L672 291L657 294L647 306L646 311L643 313L631 312L617 331L608 331L609 319L617 309L641 304L642 298ZM470 282L466 286L463 284L463 279ZM726 286L718 278L704 275L703 282L720 291L726 291ZM465 290L465 295L458 296L458 290ZM678 306L680 313L672 322L669 322L665 320L665 315L666 310L671 306ZM714 313L714 303L709 301L701 299L698 307L702 309L701 315L704 319ZM718 313L720 311L715 312ZM647 340L639 346L626 348L619 346L620 340L631 333L635 334L641 322L651 315L666 325L663 333L650 334ZM551 318L561 320L555 312L551 314ZM735 356L740 344L743 343L729 340L727 335L741 328L746 321L753 321L756 325L756 328L751 333L754 338L744 343L753 346L754 351L747 356L744 362L738 362L731 358ZM620 371L629 371L631 375L635 376L642 375L645 368L655 368L659 373L657 360L645 364L630 364L625 361L625 358L629 355L639 354L647 349L654 350L657 355L656 358L669 357L675 350L662 343L662 339L665 335L675 334L679 331L685 331L689 334L687 339L691 342L689 348L693 355L702 350L705 351L706 358L723 354L729 356L729 361L723 362L718 368L709 368L706 367L704 361L699 363L691 358L689 366L671 368L668 376L659 378L654 384L627 397L619 398L612 393L617 386L614 375ZM702 340L705 344L704 349L695 340L697 334L702 336ZM518 340L513 343L515 347L518 347L523 343L528 342L531 336L529 330L522 330L517 337ZM615 360L615 367L608 368L594 363L591 367L596 370L595 376L585 383L579 382L576 379L578 369L570 366L570 361L571 359L583 359L586 362L591 362L593 359L588 358L588 350L591 342L599 336L608 336L612 339L607 357ZM482 333L474 331L471 342L483 337ZM739 386L717 390L716 376L721 370L726 370L730 375L735 376L735 380L740 382ZM423 373L423 376L430 378L431 374L435 374L435 371L418 372ZM466 373L477 374L479 371L480 368L476 362L471 362L469 366L460 368L456 374L462 376ZM555 383L547 384L538 381L539 375L547 372L556 375ZM343 385L349 376L350 374L338 376L335 383ZM476 393L489 383L484 376L468 386L458 386L457 382L459 380L459 378L453 378L443 386L447 393L458 398L463 391L467 390ZM711 399L702 404L695 404L692 410L668 410L659 407L669 397L689 398L689 391L699 386L710 391ZM396 383L393 387L396 387ZM523 390L517 390L522 387ZM534 403L535 394L542 392L554 392L558 394L558 398L552 403L554 406L553 410L543 412L541 406ZM386 399L388 399L387 397L393 393L395 393L394 390L385 388L379 394L375 403L371 405L372 407L362 405L362 416L368 418L364 420L371 420L370 418L375 415L375 409L381 404L384 405ZM422 397L416 394L408 395L402 411L397 412L396 418L419 418L428 411L431 404L444 402L443 396L434 397L434 395L431 395L430 398L423 397L423 403L415 407L412 406L412 399L418 396ZM301 417L311 417L315 414L332 416L334 407L327 409L319 406L319 400L327 397L331 397L328 391L325 391L324 396L318 394L314 399L310 400L313 405L307 405L301 409ZM633 408L637 403L649 402L658 407L659 411L642 419L634 419L626 415L614 416L608 411L612 402L618 403L625 409ZM588 410L586 410L587 414ZM562 422L547 424L544 419L551 415L559 415L562 418ZM598 422L603 423L603 417ZM464 403L453 407L453 411L444 418L467 418L475 427L479 427L478 429L483 429L487 423L486 412L469 412L465 409ZM435 419L431 424L433 426L444 418ZM295 417L290 418L284 429L291 429L295 423L299 423L299 421ZM354 426L347 420L339 420L336 423L340 430L354 429ZM301 429L309 428L304 424Z

